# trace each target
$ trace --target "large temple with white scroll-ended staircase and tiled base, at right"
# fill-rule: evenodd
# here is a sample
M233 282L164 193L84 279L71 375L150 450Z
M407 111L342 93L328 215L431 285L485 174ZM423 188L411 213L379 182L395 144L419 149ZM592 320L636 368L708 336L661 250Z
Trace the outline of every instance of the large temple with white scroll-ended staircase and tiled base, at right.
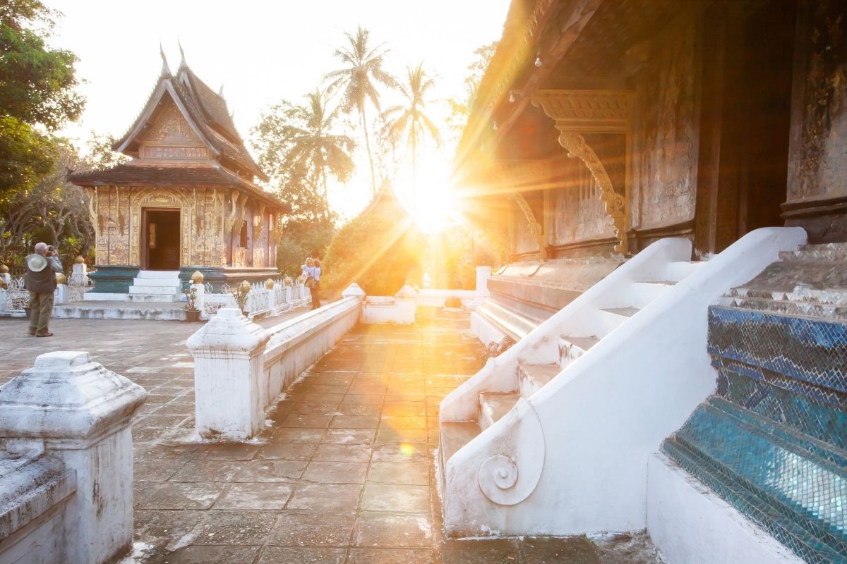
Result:
M457 152L512 255L446 533L847 562L845 147L843 0L512 0Z

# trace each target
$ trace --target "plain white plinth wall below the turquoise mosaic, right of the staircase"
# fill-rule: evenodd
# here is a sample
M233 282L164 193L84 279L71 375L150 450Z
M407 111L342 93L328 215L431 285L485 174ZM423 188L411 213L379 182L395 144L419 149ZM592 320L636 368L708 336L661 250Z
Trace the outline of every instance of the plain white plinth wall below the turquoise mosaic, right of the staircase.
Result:
M650 456L647 532L667 564L802 564L661 452Z

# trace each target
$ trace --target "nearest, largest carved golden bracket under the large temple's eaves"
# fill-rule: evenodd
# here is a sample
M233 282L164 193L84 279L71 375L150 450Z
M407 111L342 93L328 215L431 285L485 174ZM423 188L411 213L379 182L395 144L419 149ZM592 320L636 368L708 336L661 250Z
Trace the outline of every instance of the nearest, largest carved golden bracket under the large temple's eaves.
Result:
M556 122L559 145L568 156L585 163L601 189L601 200L606 213L612 216L615 250L625 254L627 245L627 198L629 194L630 124L633 94L628 90L538 90L532 98L535 107L541 107ZM626 172L623 191L615 192L612 180L600 158L585 142L584 133L626 135Z

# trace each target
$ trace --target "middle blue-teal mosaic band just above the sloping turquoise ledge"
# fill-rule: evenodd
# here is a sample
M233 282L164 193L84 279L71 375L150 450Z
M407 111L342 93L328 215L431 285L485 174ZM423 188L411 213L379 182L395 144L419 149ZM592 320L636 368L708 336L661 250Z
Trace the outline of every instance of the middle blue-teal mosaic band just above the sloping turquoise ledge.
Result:
M847 397L838 392L762 371L750 377L736 364L720 366L717 395L772 423L772 433L806 436L811 452L847 465Z

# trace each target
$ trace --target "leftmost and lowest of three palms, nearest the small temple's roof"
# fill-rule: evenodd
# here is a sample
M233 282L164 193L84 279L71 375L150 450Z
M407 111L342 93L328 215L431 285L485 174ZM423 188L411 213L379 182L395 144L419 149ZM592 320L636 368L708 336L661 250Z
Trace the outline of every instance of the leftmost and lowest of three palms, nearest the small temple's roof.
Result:
M302 125L285 125L281 131L291 140L285 166L309 171L313 186L323 189L324 219L329 219L327 177L332 174L341 182L350 178L354 168L350 152L355 149L356 142L347 135L332 133L339 110L329 111L325 91L316 88L305 97L307 104L294 108L294 116Z

